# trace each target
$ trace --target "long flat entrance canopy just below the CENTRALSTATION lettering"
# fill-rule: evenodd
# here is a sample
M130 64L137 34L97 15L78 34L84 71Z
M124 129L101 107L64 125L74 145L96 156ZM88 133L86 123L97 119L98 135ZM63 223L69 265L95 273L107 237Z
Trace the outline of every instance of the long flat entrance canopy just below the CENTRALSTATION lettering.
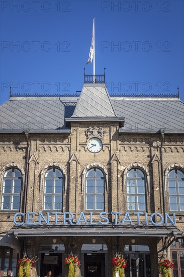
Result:
M59 226L59 227L21 227L12 229L15 237L37 236L131 236L131 237L182 237L182 232L176 227L166 226Z

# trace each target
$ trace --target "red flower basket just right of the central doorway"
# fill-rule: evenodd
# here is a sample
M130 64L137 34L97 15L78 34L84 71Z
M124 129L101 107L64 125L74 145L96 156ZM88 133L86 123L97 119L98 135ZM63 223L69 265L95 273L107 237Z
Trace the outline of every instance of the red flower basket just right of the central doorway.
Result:
M121 253L116 253L115 257L112 258L111 266L113 268L113 277L123 277L124 269L127 268L127 261Z

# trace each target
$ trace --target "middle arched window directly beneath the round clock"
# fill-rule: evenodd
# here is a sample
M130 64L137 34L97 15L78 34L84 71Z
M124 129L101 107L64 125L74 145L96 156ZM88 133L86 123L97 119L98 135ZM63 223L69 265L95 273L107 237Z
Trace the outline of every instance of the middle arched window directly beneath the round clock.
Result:
M104 174L98 168L86 173L85 210L104 211Z

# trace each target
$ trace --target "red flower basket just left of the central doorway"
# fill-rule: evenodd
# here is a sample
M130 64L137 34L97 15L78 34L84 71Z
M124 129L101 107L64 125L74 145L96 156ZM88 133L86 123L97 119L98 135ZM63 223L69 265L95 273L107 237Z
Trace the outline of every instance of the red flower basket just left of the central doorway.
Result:
M68 255L68 257L65 258L64 262L66 265L67 276L75 277L77 267L80 266L80 261L78 260L77 255L73 256L73 254L71 253L70 255Z

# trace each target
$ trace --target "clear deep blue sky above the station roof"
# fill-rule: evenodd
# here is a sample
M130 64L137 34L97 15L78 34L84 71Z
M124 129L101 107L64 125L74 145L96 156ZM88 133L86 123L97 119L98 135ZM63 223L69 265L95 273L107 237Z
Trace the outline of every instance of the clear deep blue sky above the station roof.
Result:
M183 96L183 1L1 1L0 102L83 85L95 17L96 74L110 93Z

